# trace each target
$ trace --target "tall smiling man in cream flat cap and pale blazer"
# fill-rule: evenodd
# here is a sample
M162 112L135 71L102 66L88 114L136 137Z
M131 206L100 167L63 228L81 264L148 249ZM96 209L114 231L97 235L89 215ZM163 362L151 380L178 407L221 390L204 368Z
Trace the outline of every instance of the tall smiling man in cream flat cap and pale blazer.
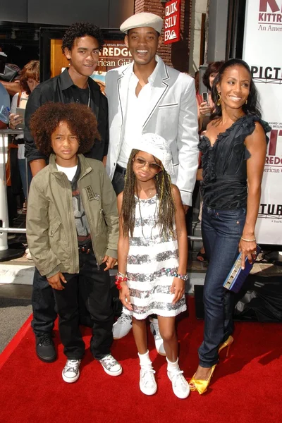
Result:
M106 73L109 101L109 150L106 169L118 195L132 145L142 133L156 133L168 141L175 183L187 212L192 204L198 166L198 123L195 81L156 55L161 45L163 20L154 13L137 13L121 25L125 45L133 56L130 65ZM114 324L114 338L131 329L124 314ZM157 319L152 319L156 347L164 354Z

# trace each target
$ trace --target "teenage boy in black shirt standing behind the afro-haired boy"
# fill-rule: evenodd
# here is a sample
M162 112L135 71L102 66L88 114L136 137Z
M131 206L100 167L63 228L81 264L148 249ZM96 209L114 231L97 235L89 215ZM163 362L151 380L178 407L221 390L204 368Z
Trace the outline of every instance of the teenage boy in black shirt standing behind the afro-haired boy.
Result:
M109 145L108 104L99 85L90 78L99 61L103 46L102 32L90 23L73 23L63 36L63 54L70 67L61 75L39 84L30 94L25 110L25 157L30 163L32 176L47 165L35 146L30 133L30 117L47 102L86 104L98 121L101 141L97 140L86 157L105 163ZM32 290L32 328L36 337L37 357L44 362L56 360L56 350L51 331L56 319L54 295L47 279L35 269Z

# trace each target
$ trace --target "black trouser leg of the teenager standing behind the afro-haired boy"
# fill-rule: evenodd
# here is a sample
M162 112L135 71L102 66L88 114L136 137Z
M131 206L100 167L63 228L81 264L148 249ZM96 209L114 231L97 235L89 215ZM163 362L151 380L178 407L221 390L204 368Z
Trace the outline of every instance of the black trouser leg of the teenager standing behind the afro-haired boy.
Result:
M32 329L35 336L51 333L57 314L54 293L45 276L35 268L32 287Z

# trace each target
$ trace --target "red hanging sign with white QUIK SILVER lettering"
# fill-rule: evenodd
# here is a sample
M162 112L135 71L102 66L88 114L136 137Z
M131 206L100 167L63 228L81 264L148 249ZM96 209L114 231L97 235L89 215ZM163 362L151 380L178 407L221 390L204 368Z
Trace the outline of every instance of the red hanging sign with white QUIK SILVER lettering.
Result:
M164 44L171 44L180 40L180 0L166 3L164 18Z

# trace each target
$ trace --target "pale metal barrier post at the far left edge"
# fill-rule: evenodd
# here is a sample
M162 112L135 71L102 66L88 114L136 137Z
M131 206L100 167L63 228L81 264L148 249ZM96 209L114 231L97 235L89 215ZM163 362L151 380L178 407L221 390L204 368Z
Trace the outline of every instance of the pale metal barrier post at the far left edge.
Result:
M6 231L1 228L8 228L8 200L6 187L6 161L8 157L8 135L22 134L22 130L0 130L0 262L22 257L25 247L21 243L8 243Z

